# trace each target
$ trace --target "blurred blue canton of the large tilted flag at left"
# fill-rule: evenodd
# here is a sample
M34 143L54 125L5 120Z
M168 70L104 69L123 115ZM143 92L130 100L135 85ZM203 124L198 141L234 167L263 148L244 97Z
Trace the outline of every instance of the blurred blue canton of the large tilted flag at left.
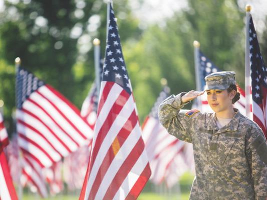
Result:
M31 93L43 85L45 85L45 82L39 80L33 73L18 67L16 74L17 108L21 109L24 101L27 100Z

